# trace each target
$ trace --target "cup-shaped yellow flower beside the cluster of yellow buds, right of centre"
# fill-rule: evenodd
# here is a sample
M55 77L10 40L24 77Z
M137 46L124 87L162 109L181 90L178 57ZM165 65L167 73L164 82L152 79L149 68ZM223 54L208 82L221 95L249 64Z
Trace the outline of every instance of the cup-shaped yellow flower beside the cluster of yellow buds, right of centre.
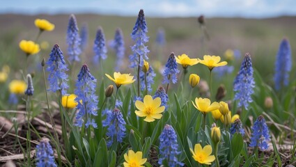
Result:
M211 101L208 98L195 98L195 104L194 102L192 102L192 104L194 105L194 107L196 109L198 109L198 111L201 111L201 113L205 114L208 113L210 111L214 111L216 109L219 109L220 105L217 102L213 102L211 104Z

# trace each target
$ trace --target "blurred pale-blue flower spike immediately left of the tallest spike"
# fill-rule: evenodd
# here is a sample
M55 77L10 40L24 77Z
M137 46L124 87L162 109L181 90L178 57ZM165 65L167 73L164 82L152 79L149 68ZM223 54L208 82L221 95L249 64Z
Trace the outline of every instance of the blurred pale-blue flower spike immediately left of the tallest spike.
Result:
M117 28L115 31L114 40L111 41L111 48L114 49L116 53L116 67L115 70L118 71L123 65L123 58L125 56L125 42L123 40L123 31Z

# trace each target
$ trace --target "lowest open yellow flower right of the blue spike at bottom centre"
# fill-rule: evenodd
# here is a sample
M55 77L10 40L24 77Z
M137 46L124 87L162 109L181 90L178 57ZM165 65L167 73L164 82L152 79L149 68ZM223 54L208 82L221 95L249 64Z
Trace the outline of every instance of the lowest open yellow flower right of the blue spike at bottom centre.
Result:
M190 151L192 152L192 157L195 161L198 161L199 164L207 164L210 165L212 161L215 161L215 156L210 155L212 154L212 146L211 145L205 145L204 148L201 147L201 144L196 144L194 146L194 151L192 148L190 148Z

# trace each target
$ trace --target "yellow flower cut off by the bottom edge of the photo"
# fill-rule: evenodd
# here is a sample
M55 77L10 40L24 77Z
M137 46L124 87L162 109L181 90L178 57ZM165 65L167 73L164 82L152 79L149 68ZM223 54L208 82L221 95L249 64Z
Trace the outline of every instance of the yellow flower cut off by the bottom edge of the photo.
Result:
M129 150L124 154L125 162L123 162L124 167L144 167L143 164L147 161L147 159L142 159L143 153L136 152L133 150Z

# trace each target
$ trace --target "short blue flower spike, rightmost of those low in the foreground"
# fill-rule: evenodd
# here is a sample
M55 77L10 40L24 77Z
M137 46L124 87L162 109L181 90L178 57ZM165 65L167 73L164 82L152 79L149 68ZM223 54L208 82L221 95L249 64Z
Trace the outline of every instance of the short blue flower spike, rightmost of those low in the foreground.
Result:
M268 142L270 141L270 131L268 130L263 116L257 118L251 130L251 143L249 146L266 150L268 148Z

